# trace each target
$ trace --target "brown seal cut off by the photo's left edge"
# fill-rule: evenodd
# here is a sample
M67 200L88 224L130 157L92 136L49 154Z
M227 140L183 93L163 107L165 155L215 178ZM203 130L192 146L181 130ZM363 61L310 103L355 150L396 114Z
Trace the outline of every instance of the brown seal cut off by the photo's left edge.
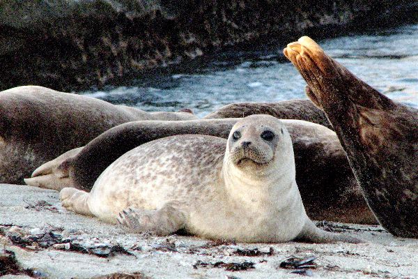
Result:
M196 116L148 113L41 86L1 91L0 183L22 184L36 167L121 123L181 119Z

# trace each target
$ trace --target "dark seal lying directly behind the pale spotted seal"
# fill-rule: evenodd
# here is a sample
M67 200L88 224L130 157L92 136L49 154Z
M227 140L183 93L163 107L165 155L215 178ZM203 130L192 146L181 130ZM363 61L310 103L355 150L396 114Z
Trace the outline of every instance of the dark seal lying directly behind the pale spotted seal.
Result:
M240 119L136 121L111 128L84 148L64 153L25 179L31 186L90 191L98 176L117 158L161 137L184 134L227 138ZM296 181L308 216L314 220L376 224L359 192L335 133L315 123L282 120L293 142ZM318 202L320 201L320 202Z

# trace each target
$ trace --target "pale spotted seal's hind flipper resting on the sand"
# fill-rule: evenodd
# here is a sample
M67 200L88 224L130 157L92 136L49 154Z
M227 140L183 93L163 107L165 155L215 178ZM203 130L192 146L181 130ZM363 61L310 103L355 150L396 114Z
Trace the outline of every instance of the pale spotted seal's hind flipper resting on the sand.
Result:
M90 197L89 193L75 188L63 188L59 193L59 199L65 209L82 215L93 216L88 207L88 197Z

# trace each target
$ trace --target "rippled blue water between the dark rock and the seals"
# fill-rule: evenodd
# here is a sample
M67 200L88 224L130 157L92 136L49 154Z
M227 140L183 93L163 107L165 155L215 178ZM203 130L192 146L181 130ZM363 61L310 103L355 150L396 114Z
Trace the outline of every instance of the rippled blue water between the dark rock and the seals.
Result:
M289 42L290 43L290 42ZM327 54L389 98L418 107L418 24L320 40ZM285 45L229 51L129 81L79 92L146 111L191 108L204 116L236 102L307 98ZM261 47L262 48L262 47Z

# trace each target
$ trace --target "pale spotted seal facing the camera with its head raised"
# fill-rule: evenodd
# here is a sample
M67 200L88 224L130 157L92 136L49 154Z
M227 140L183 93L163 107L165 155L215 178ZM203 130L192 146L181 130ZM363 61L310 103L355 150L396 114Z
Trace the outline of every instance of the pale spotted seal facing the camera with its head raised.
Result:
M238 121L228 140L178 135L138 146L107 167L91 193L63 188L60 199L65 209L117 221L134 233L185 229L240 242L360 242L309 220L291 137L267 115Z

